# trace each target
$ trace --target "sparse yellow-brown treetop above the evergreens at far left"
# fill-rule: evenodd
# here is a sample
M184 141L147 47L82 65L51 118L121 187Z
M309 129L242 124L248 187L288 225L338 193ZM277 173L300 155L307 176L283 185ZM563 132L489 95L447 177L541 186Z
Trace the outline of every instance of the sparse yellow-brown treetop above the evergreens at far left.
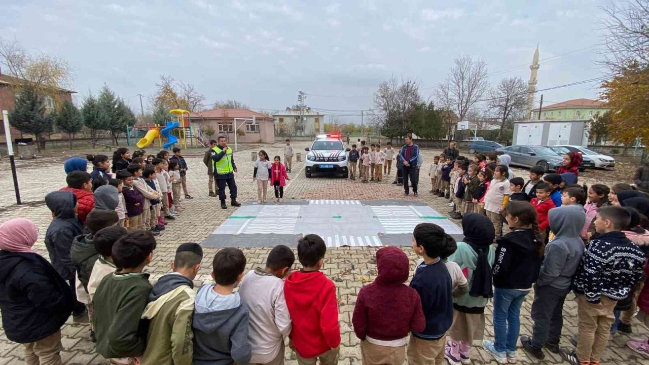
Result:
M29 84L38 94L58 94L59 88L69 86L72 81L66 60L47 53L30 54L16 40L9 42L0 38L0 62L8 69L8 75Z

